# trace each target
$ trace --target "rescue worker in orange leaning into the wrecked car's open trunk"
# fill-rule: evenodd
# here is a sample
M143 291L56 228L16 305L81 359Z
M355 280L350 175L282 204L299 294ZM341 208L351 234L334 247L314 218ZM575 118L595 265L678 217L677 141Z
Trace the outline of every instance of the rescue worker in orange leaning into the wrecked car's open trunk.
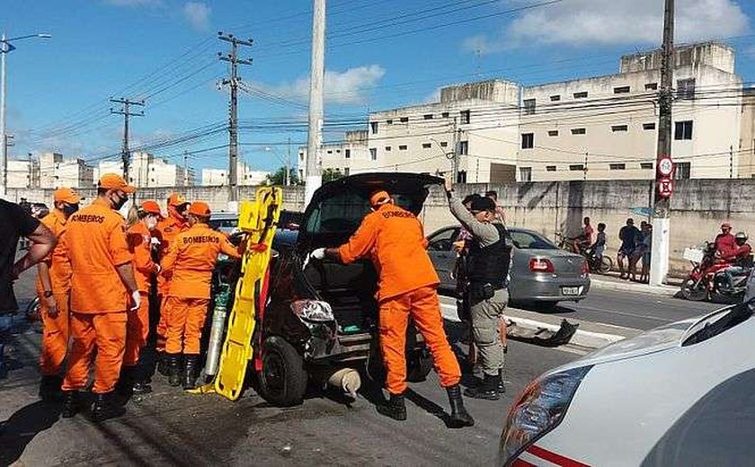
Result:
M386 365L386 388L390 400L377 411L396 420L406 419L406 327L409 317L430 348L440 385L449 394L451 426L471 427L475 420L466 412L457 358L451 350L440 314L438 275L427 254L422 223L413 213L395 205L385 190L369 197L372 212L364 217L349 242L339 248L312 252L316 260L325 258L349 264L369 258L379 275L377 301L380 307L380 349Z

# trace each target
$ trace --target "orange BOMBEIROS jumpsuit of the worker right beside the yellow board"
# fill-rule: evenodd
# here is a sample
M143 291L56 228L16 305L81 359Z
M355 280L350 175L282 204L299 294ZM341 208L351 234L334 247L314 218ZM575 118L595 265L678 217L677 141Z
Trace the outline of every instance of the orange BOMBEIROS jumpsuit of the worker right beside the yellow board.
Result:
M161 276L169 279L170 285L164 302L168 316L166 353L200 353L212 270L218 262L219 252L240 257L228 237L212 230L207 224L192 225L175 237L161 272Z

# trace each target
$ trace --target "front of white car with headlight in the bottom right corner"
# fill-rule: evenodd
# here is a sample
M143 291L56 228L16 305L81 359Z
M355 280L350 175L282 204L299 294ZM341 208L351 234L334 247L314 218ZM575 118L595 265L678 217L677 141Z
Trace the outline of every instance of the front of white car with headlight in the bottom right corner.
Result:
M674 322L541 375L499 465L755 465L755 301Z

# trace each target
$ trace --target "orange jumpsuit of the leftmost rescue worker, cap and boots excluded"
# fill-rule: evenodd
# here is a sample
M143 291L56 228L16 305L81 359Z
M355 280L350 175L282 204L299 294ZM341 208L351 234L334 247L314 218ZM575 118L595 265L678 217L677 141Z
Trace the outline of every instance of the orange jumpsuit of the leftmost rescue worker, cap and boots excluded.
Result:
M66 216L58 209L42 218L55 234L58 244L50 252L45 262L49 268L49 282L52 296L58 304L58 314L50 316L44 287L37 276L37 295L40 297L40 309L44 330L42 331L42 349L40 352L40 372L43 376L58 374L68 351L68 297L71 292L71 265L68 262L63 235L66 233Z

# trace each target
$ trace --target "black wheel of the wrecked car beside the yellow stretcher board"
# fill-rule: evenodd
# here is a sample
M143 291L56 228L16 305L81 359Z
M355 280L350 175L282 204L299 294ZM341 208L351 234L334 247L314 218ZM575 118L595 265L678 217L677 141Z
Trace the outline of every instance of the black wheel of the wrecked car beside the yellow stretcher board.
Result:
M304 359L296 348L278 336L266 339L264 349L260 372L262 397L282 407L301 404L307 383Z

